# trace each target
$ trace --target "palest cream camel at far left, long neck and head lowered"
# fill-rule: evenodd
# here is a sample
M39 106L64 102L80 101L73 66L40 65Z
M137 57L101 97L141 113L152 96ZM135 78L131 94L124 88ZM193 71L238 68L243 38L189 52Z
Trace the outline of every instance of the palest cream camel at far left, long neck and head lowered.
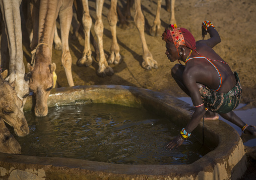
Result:
M23 101L21 106L21 110L23 111L24 104L29 95L29 85L28 81L25 79L25 66L23 63L20 4L21 0L0 1L5 23L5 31L2 31L2 40L4 36L7 36L10 55L9 76L8 70L6 70L3 73L3 77L14 87L18 97ZM4 42L2 42L2 45L3 43ZM1 46L1 49L7 52L6 45Z

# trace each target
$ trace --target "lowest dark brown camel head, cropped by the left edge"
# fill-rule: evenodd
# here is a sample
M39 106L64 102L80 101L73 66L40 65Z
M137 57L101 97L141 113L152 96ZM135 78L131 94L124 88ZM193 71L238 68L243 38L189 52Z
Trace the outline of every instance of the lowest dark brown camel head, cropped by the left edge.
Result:
M0 118L0 152L21 154L19 142L10 133L3 119Z

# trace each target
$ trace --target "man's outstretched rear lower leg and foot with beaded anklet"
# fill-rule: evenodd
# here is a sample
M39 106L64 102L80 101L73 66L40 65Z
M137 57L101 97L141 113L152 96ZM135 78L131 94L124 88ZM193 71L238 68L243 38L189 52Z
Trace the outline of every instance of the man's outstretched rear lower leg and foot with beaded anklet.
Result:
M226 114L220 114L221 117L225 118L226 120L232 122L233 124L237 125L238 127L242 128L246 123L243 122L235 113L231 111ZM244 133L256 135L256 126L249 125L245 130Z

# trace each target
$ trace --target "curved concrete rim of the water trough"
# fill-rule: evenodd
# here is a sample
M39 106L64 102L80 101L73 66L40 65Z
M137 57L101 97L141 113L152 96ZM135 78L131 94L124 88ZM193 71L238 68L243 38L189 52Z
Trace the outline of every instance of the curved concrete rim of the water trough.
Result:
M63 96L65 94L65 96ZM67 96L67 94L69 94ZM82 97L77 99L77 97ZM154 106L157 111L168 109L167 115L177 113L174 120L182 118L183 124L189 121L194 107L189 104L160 92L154 92L148 89L142 89L131 86L121 85L93 85L93 86L74 86L65 88L56 88L51 91L48 98L48 107L68 104L81 103L111 103L128 105L131 107L150 109ZM126 102L127 101L127 102ZM136 103L134 103L136 102ZM126 103L126 104L125 104ZM33 98L29 96L24 107L24 111L33 109ZM185 119L185 120L184 120ZM221 128L220 128L221 127ZM202 128L202 121L197 128ZM144 174L154 177L199 177L200 174L205 176L206 173L216 173L215 169L218 164L226 164L226 173L230 176L232 168L244 155L244 148L239 134L228 124L221 120L205 120L205 133L210 134L217 143L216 148L205 156L191 164L179 165L140 165L140 164L112 164L105 162L95 162L82 159L64 158L64 157L36 157L17 154L0 153L0 167L3 163L23 164L23 168L28 164L33 164L37 168L43 168L45 171L49 166L53 169L79 169L80 173L107 173L139 175ZM225 129L225 131L223 131ZM227 137L228 134L228 137ZM201 135L201 134L200 134ZM232 139L232 141L230 140ZM205 139L208 141L207 139ZM209 139L210 140L210 139ZM237 152L238 148L238 152ZM240 150L239 150L240 149ZM232 154L237 156L233 160ZM230 158L233 160L230 162ZM9 164L10 165L10 164ZM24 166L25 165L25 166ZM21 169L22 170L22 169ZM24 169L25 170L25 169ZM61 170L61 173L63 170Z

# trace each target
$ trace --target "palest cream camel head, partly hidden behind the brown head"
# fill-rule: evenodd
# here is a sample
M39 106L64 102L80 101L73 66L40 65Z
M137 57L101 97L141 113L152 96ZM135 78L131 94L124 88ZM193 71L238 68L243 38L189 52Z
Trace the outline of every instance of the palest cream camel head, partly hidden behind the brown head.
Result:
M5 75L8 74L7 71L8 70L5 70L3 72L3 78L9 82L9 84L17 92L18 97L22 100L21 111L23 111L24 105L29 95L28 80L25 80L25 74L19 72L13 72L8 77L6 77Z

